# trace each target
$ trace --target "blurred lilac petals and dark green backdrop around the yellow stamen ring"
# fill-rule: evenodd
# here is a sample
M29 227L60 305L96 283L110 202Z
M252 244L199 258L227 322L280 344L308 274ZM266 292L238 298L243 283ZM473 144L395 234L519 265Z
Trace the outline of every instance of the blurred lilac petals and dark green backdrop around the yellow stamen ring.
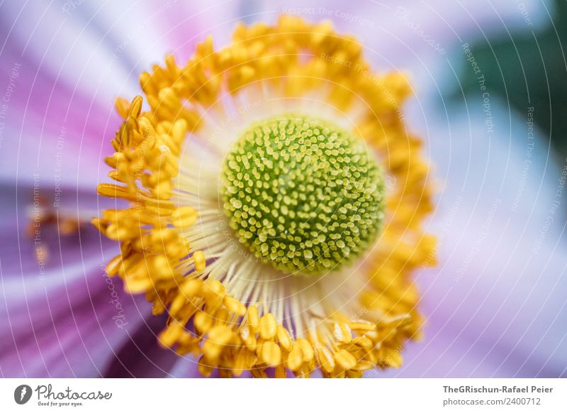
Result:
M4 1L0 4L0 375L185 377L164 319L104 275L118 247L89 221L118 96L238 22L331 20L404 108L434 165L437 268L415 277L422 341L369 377L567 375L567 2Z

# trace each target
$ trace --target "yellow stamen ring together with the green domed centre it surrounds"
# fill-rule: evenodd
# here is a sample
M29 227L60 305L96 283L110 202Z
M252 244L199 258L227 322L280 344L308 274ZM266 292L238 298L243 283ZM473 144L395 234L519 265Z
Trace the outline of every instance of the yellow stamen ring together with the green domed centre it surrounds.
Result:
M202 375L399 367L422 322L412 270L434 263L405 77L374 75L329 22L281 16L140 84L150 110L117 100L118 183L98 188L130 206L93 223L120 241L108 275L167 312L160 343Z

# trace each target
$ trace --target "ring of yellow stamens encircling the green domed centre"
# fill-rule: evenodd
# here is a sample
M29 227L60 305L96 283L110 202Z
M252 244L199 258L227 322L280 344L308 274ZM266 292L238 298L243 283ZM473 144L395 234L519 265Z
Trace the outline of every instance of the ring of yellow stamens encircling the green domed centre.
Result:
M266 377L271 366L276 377L286 377L287 370L309 377L320 369L325 377L354 378L376 366L399 367L400 348L420 336L422 324L411 273L435 263L435 240L422 229L433 209L430 171L420 155L420 140L407 133L400 118L400 105L411 91L407 77L374 74L362 46L335 33L330 22L312 25L282 16L275 26L240 25L234 40L215 50L208 37L186 65L169 55L163 67L142 73L149 111L142 112L142 97L130 103L116 100L124 122L112 140L116 153L105 159L113 169L108 176L116 183L102 183L98 192L125 199L130 207L104 211L92 221L120 242L121 253L108 263L108 275L118 275L128 292L145 293L154 314L167 312L160 345L200 356L203 376L218 368L222 377L245 370ZM325 108L332 108L331 119L325 118L329 121L347 114L354 122L349 133L380 158L393 182L379 240L362 265L337 277L337 285L332 274L305 281L243 258L238 246L232 249L237 243L233 235L219 229L218 217L224 215L215 205L218 194L201 194L214 189L218 175L199 182L204 178L192 173L206 153L199 152L202 148L185 150L187 145L206 136L215 146L210 131L225 121L210 124L203 113L228 116L224 100L236 102L264 92L276 94L266 104L324 101ZM229 145L213 149L223 153ZM278 161L278 155L274 152L269 161ZM280 178L262 182L259 175L258 182L285 189L289 182ZM249 180L243 174L236 181L242 187L235 189L246 199L244 184ZM295 193L300 199L301 191ZM247 225L264 224L254 216L259 200L248 200ZM287 205L274 210L289 213ZM356 222L358 216L352 218ZM281 221L274 216L266 223ZM315 229L315 236L325 233L325 228ZM328 245L347 251L348 240L332 235L337 239ZM313 258L307 248L297 255L292 241L285 251L280 243L270 245L276 246L274 254L285 253L289 259Z

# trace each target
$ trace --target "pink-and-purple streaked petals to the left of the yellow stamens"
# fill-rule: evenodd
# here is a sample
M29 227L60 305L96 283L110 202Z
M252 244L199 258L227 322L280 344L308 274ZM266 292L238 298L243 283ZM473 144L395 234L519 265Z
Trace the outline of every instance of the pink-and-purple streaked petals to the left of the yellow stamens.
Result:
M203 3L156 9L140 1L132 10L84 2L70 14L61 4L2 6L3 21L17 22L0 25L3 377L198 375L195 363L157 346L164 320L145 299L106 276L116 245L89 221L113 204L95 189L106 175L98 158L104 137L119 125L108 102L117 90L137 90L132 67L150 65L167 44L183 53L206 22L237 13L236 3ZM42 217L34 227L40 237L30 237L36 194L47 199L41 216L51 211L80 230L65 235ZM38 250L47 260L38 260Z

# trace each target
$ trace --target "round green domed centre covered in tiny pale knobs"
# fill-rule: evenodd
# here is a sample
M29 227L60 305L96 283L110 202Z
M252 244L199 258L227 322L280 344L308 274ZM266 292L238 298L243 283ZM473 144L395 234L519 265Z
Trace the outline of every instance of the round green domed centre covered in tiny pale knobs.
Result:
M284 272L337 270L380 232L382 169L364 141L327 121L287 114L254 124L221 175L237 238Z

